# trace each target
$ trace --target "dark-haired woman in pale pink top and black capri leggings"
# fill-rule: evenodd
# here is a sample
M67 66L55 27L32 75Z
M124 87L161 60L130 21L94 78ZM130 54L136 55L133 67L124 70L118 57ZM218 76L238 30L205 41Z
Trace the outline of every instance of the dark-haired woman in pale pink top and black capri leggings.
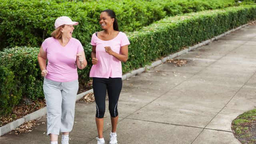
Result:
M122 65L128 59L126 34L119 32L116 14L112 10L103 10L100 14L101 32L92 35L92 86L96 102L96 125L98 144L105 144L103 122L105 113L106 91L108 91L108 109L111 116L112 130L110 144L117 144L116 126L118 122L118 98L122 90Z

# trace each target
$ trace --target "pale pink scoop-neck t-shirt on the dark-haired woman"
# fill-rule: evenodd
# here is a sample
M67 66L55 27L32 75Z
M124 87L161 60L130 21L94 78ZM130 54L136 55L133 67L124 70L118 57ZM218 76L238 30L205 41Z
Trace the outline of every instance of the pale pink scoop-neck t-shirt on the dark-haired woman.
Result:
M122 64L114 56L105 51L105 46L110 46L112 51L121 54L121 46L130 44L126 34L119 32L112 40L101 40L96 34L92 35L91 45L96 46L96 58L98 62L93 65L90 77L97 78L122 78Z

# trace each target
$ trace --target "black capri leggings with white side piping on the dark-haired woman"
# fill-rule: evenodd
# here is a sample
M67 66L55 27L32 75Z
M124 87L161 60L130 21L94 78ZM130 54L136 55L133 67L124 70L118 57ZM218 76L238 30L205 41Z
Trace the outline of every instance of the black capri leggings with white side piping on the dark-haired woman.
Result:
M96 102L96 117L103 118L106 110L106 91L108 90L108 110L110 116L118 116L117 103L122 90L122 78L92 78L92 88Z

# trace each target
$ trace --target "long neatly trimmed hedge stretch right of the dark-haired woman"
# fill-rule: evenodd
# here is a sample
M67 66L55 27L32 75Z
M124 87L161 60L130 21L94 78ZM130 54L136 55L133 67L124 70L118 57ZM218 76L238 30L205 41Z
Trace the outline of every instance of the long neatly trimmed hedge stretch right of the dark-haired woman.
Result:
M128 62L123 71L218 36L232 28L256 20L256 6L209 10L165 18L139 31L127 33L130 40Z

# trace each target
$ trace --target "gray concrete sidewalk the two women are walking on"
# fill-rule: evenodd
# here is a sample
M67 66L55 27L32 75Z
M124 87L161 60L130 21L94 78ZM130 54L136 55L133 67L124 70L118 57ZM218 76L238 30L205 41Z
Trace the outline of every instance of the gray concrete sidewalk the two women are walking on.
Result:
M118 143L240 144L231 122L256 106L256 26L178 58L189 63L182 67L161 64L123 82ZM97 143L95 113L95 103L76 103L70 144ZM46 116L38 122L32 132L0 137L0 144L50 144ZM106 110L106 144L110 130Z

